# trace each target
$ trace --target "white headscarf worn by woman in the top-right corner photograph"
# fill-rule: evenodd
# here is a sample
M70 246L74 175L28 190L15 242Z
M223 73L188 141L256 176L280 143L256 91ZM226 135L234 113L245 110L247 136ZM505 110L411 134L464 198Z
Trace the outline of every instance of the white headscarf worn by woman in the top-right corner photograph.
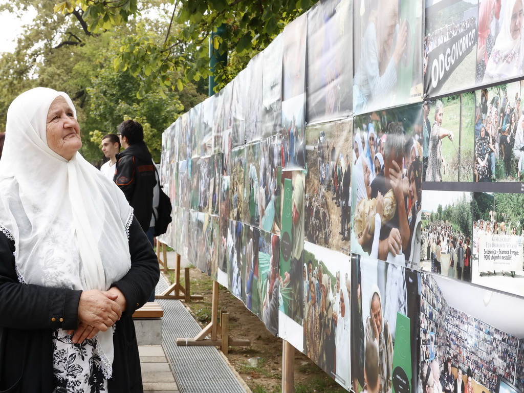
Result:
M517 77L522 73L522 58L524 57L524 37L522 35L524 34L524 24L520 27L518 38L514 40L511 37L511 15L513 7L517 2L524 4L523 0L506 3L502 26L486 65L484 82Z

